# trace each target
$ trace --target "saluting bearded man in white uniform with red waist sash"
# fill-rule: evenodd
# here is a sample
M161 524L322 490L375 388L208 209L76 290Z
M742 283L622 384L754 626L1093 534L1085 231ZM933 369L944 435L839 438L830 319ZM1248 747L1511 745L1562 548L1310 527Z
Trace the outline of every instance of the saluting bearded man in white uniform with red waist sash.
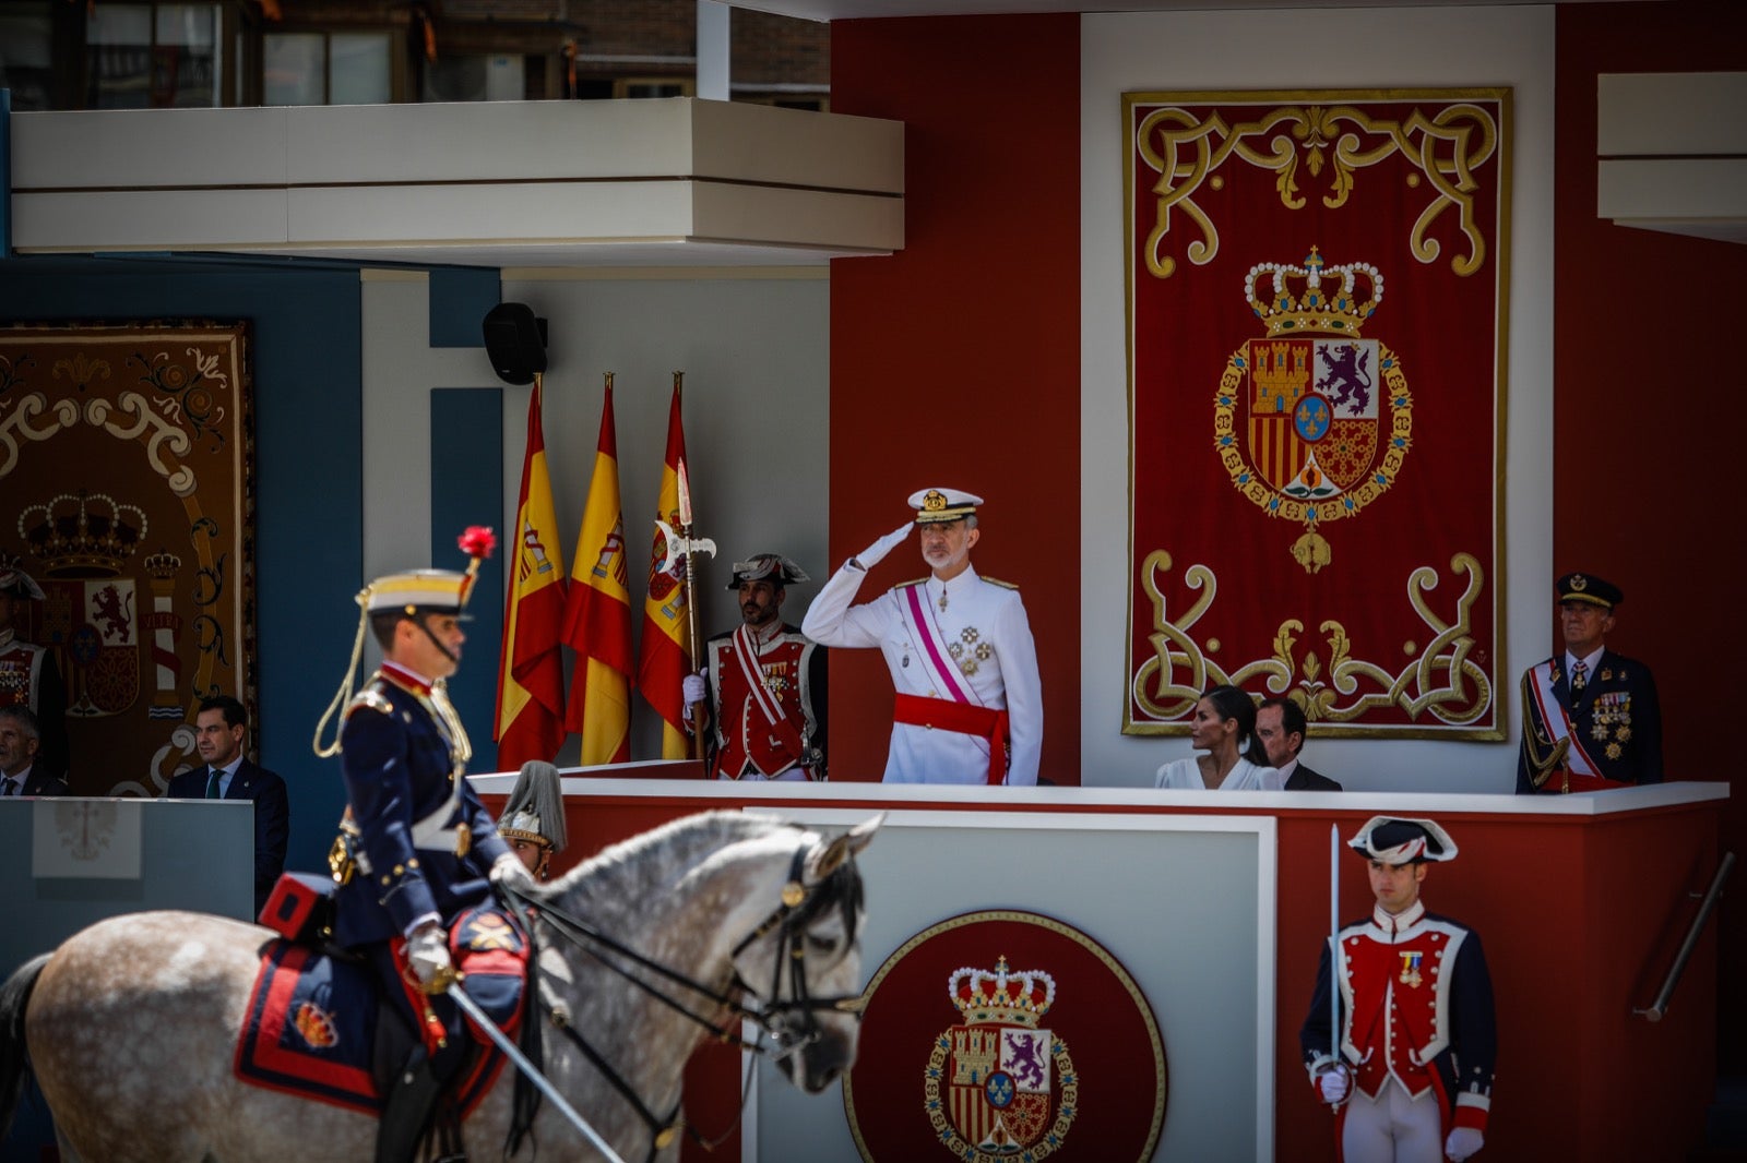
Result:
M1036 784L1043 685L1019 590L971 566L982 498L910 496L914 517L851 557L800 629L826 646L877 646L896 688L886 782ZM853 606L868 569L917 533L929 576Z

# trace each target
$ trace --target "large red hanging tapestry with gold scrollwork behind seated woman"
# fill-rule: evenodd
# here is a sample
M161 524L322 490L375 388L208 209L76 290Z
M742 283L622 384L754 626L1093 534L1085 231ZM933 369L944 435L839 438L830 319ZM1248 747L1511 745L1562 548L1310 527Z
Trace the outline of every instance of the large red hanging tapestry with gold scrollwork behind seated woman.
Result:
M1502 739L1509 91L1134 93L1125 733Z

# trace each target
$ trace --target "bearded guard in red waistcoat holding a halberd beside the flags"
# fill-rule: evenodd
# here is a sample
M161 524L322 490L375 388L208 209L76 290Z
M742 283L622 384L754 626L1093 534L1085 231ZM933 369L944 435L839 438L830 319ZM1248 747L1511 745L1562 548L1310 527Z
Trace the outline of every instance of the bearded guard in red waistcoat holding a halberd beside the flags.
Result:
M687 711L709 707L704 758L716 779L823 781L825 648L783 622L788 587L807 571L777 554L734 562L741 625L704 644L704 671L685 676Z

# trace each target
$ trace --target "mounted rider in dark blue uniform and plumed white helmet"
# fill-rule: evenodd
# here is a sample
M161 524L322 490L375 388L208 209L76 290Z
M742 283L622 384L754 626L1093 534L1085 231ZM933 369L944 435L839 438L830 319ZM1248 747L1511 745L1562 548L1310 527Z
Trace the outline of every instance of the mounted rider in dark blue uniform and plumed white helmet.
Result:
M514 929L503 913L480 917L496 912L491 885L533 885L466 781L472 744L445 688L461 664L461 611L479 561L491 552L491 531L468 529L461 547L473 557L466 573L414 569L358 594L363 615L351 665L316 728L316 754L339 754L346 781L346 814L328 856L339 882L334 941L370 960L423 1043L388 1088L377 1163L412 1158L445 1083L468 1062L472 1039L438 994L466 976L475 953L501 962L493 953ZM353 697L365 625L383 665ZM321 747L341 704L339 737ZM477 931L494 939L470 945ZM501 976L486 973L480 981ZM498 995L468 994L503 1025L517 1015L519 997L501 987Z

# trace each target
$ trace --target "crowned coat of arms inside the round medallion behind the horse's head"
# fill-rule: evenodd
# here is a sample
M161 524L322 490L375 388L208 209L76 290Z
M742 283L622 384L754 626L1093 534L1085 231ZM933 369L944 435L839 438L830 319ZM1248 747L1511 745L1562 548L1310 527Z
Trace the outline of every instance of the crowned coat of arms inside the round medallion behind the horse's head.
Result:
M1067 1044L1038 1025L1055 1002L1055 978L1013 973L1001 957L994 971L957 969L947 994L964 1022L935 1039L922 1076L942 1146L966 1163L1046 1158L1080 1105Z

